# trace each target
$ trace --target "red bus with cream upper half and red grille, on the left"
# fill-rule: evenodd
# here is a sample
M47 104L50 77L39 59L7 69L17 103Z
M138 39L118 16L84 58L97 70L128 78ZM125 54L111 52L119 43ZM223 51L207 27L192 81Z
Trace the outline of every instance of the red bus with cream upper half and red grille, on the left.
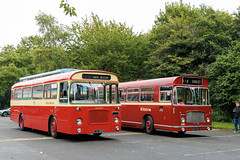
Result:
M60 69L20 78L12 86L11 117L21 130L58 133L119 132L118 76L94 70Z

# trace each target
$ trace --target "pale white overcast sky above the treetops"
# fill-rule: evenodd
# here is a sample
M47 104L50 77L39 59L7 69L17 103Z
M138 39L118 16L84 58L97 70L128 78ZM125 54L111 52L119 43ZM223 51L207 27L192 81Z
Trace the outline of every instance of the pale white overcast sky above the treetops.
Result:
M77 17L70 17L59 8L61 0L1 0L0 5L0 49L7 45L16 46L21 38L38 34L35 16L44 12L57 18L60 24L71 25L73 21L97 14L103 21L115 20L133 27L133 31L148 32L160 10L166 3L180 0L68 0L76 8ZM237 12L239 0L182 0L196 8L201 4L215 10Z

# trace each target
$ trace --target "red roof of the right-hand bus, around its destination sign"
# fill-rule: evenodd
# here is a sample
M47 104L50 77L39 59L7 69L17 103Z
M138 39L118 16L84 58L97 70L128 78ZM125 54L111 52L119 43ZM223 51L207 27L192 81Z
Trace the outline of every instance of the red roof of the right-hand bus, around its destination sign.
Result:
M201 84L184 84L183 79L195 79L195 80L202 80ZM157 78L157 79L149 79L149 80L137 80L137 81L130 81L130 82L122 82L119 84L120 88L133 88L133 87L151 87L151 86L170 86L170 85L198 85L198 86L208 86L208 80L206 78L200 76L176 76L176 77L165 77L165 78Z

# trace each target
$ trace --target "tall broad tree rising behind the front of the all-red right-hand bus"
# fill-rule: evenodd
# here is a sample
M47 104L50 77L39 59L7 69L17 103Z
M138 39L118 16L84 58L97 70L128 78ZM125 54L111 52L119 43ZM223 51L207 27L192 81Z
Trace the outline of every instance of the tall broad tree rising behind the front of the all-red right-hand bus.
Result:
M204 76L216 55L230 45L232 20L230 14L206 6L167 4L149 35L145 77Z

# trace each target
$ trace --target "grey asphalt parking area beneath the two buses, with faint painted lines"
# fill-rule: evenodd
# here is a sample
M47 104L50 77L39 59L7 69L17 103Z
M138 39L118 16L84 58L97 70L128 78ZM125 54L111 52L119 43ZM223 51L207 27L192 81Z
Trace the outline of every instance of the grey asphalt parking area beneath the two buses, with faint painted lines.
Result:
M62 135L53 139L37 130L20 131L0 117L0 160L239 160L240 133L228 130L158 131L153 135L124 128L118 133Z

